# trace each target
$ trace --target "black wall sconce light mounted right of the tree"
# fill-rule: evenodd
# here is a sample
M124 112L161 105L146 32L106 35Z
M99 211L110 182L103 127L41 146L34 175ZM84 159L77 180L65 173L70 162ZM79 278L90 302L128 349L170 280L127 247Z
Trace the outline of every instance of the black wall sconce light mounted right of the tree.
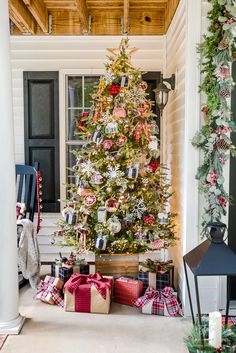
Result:
M164 82L169 84L167 87ZM162 116L163 109L165 108L168 102L169 92L175 89L175 74L171 75L169 78L163 78L161 74L160 83L157 85L157 88L153 91L155 92L156 104L160 109L160 114Z

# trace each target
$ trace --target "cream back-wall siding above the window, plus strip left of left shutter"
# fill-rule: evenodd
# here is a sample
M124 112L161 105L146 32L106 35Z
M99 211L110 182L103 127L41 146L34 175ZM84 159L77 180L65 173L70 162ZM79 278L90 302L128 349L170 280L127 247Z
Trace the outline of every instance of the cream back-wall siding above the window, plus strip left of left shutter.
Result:
M121 37L96 36L12 36L11 63L15 123L15 157L24 163L23 71L104 68L108 52ZM133 36L130 45L139 48L133 63L144 71L161 71L165 55L163 36Z

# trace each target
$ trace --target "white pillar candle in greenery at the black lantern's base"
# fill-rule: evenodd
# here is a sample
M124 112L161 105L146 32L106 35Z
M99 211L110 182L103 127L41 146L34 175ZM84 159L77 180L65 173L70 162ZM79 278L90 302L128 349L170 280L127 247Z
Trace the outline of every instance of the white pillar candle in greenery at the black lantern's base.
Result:
M209 344L215 348L222 344L222 318L218 311L209 313Z

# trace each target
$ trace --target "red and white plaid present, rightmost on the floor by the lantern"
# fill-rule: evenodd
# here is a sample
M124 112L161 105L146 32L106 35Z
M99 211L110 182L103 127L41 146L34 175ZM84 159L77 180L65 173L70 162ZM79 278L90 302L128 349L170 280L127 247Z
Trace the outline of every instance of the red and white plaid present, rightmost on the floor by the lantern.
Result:
M165 287L161 291L148 287L134 305L141 308L143 314L149 315L177 316L180 312L177 294L171 287Z

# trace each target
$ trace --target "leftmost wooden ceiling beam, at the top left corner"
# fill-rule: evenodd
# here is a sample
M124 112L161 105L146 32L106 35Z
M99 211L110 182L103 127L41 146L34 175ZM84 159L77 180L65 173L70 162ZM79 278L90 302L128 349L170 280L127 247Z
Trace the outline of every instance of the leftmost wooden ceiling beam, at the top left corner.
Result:
M10 19L22 33L35 33L36 22L21 1L10 0L9 12Z

